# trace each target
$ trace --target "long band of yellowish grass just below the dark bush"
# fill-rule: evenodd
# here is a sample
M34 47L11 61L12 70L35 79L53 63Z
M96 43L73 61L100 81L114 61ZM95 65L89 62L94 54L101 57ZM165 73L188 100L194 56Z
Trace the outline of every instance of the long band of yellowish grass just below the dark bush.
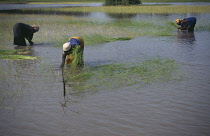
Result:
M149 10L148 10L149 9ZM35 9L34 9L35 10ZM62 12L105 12L128 14L183 14L183 13L210 13L210 6L103 6L103 7L75 7L42 9L43 11ZM27 11L27 9L25 10Z

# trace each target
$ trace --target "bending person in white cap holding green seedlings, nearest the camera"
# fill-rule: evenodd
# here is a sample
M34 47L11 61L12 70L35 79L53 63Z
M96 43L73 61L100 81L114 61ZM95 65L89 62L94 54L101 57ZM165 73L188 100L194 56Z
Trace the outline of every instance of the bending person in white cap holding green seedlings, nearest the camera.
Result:
M70 64L74 60L72 53L76 46L80 47L81 53L83 54L84 41L81 37L71 37L68 42L63 44L61 67L63 67L64 64Z

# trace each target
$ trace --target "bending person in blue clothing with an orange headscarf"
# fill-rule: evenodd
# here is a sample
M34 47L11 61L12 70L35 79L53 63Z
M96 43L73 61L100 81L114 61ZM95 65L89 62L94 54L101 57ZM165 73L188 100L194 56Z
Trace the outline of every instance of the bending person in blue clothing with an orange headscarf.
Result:
M189 17L189 18L184 18L183 20L176 19L176 24L181 26L177 27L178 30L187 30L189 32L193 32L196 24L196 18Z

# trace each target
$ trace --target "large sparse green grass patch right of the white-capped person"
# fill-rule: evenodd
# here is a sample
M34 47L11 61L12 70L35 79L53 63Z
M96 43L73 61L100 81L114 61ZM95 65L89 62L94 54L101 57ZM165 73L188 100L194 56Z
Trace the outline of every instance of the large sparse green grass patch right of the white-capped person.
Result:
M142 87L154 82L181 79L178 69L179 65L175 60L160 57L137 63L106 64L86 68L73 76L69 74L67 85L70 85L76 93L123 86ZM73 83L77 84L72 85Z

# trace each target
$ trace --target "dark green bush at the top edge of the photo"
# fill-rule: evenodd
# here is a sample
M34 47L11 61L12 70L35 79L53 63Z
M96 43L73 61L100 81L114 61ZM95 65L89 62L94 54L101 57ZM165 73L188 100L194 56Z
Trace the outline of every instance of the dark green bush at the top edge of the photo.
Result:
M135 5L141 4L141 0L106 0L105 5Z

